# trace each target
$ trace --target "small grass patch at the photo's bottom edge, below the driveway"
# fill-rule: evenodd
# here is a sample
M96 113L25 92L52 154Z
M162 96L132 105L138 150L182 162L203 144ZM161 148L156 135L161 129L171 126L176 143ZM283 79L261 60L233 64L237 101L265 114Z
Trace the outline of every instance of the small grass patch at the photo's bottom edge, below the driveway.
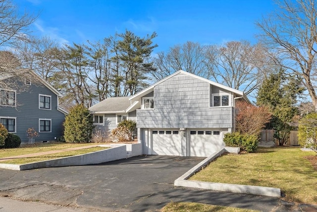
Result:
M213 206L201 203L169 203L161 212L257 212L224 206Z

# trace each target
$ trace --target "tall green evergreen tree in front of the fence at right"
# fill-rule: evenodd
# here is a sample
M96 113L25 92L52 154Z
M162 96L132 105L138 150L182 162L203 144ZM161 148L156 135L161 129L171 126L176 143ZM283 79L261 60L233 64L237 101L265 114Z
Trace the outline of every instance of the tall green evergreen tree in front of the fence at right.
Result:
M297 102L304 90L299 76L287 75L283 70L270 74L259 89L257 105L267 106L273 114L269 128L274 130L279 145L288 141L293 129L289 123L299 112Z

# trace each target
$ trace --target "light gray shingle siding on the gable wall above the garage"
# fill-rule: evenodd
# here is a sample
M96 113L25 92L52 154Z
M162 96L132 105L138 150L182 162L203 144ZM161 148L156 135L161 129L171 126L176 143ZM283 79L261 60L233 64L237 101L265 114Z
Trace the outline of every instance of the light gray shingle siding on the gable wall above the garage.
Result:
M210 83L179 74L154 87L154 110L137 110L138 128L232 128L232 107L210 107ZM149 96L149 95L148 95Z

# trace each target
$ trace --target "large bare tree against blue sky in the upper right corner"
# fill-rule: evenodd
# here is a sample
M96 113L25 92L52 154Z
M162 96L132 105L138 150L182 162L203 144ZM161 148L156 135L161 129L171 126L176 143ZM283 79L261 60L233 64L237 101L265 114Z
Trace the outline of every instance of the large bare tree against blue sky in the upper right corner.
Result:
M299 73L312 102L317 108L316 0L281 0L279 10L257 22L263 34L262 42L277 54L287 70Z

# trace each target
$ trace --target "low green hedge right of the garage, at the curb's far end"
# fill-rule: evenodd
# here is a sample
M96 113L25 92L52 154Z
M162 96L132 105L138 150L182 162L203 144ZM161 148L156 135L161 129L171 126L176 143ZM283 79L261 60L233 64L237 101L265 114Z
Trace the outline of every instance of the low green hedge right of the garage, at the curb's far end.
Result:
M239 132L227 133L223 142L226 146L240 147L241 150L254 152L258 147L259 137L255 135L240 134Z

